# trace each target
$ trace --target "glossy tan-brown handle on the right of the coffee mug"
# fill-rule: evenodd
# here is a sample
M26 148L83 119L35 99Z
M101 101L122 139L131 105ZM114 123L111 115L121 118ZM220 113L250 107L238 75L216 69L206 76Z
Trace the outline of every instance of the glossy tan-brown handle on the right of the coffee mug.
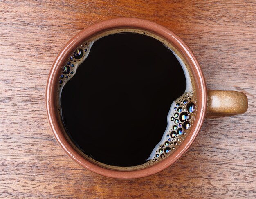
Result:
M243 114L248 108L247 96L238 91L207 91L207 116Z

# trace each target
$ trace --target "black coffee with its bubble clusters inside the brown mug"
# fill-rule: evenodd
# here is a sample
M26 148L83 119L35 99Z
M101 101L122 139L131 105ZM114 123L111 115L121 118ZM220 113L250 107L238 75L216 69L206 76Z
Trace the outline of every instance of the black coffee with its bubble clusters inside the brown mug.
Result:
M186 77L175 54L146 34L110 34L83 44L63 68L60 85L67 135L88 158L111 166L143 165L171 151L194 110L193 103L186 110L188 96L167 117L184 95ZM165 135L168 120L176 127Z

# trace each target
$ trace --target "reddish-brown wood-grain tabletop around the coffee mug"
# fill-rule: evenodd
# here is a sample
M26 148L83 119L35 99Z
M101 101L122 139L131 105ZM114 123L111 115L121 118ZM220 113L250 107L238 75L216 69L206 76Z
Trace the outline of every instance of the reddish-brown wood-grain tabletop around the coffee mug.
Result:
M1 198L255 198L255 1L0 0ZM153 20L193 50L208 89L245 92L249 110L207 118L172 167L137 180L100 177L72 161L50 130L45 85L63 45L101 20Z

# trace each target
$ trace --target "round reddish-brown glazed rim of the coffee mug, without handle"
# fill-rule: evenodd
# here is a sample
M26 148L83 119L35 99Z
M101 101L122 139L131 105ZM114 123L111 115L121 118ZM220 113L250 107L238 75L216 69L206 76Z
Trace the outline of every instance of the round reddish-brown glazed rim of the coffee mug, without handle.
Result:
M58 74L65 64L68 56L74 51L74 49L85 41L87 38L109 29L117 28L135 28L135 29L144 29L146 31L153 32L158 36L166 39L180 52L182 57L186 60L189 67L191 68L193 77L195 79L195 89L197 93L197 117L194 121L194 124L191 126L191 132L187 135L186 139L182 144L175 150L171 155L165 159L155 163L146 168L139 170L111 170L109 168L103 168L99 165L96 165L87 159L85 159L79 152L77 152L70 143L65 138L64 133L61 130L60 124L58 122L58 113L56 111L56 84L58 83ZM52 68L49 72L47 86L46 86L46 109L47 116L49 120L50 127L54 134L54 137L58 144L63 148L63 150L74 160L76 163L79 163L85 169L90 170L94 173L100 174L105 177L116 178L116 179L137 179L142 177L147 177L157 172L160 172L173 163L175 163L182 155L190 148L193 141L197 137L207 109L207 88L204 79L202 69L196 59L195 55L191 49L186 45L182 39L174 34L169 29L159 25L155 22L138 19L138 18L115 18L110 20L105 20L97 22L93 25L90 25L76 34L72 39L70 39L65 46L61 49L58 56L56 57Z

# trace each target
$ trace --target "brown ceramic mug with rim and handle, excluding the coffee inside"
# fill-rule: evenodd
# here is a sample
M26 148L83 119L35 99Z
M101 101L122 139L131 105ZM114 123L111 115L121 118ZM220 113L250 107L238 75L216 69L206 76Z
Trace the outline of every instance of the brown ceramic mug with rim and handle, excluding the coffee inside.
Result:
M58 84L59 72L65 64L68 56L79 44L88 38L103 31L120 28L145 30L167 40L186 61L188 67L191 69L193 78L196 83L195 89L197 93L197 115L193 125L191 126L190 133L181 143L180 147L177 148L177 150L175 150L170 156L166 157L162 161L159 161L158 163L139 170L111 170L108 168L103 168L85 159L72 147L72 145L65 137L65 134L61 128L61 124L59 123L58 112L56 110L56 84ZM135 179L160 172L175 163L180 157L182 157L182 155L195 141L195 138L202 127L206 115L228 116L242 114L246 112L248 104L247 96L241 92L217 90L207 91L204 75L198 60L195 58L195 55L191 49L189 49L189 47L169 29L148 20L141 20L136 18L118 18L91 25L83 29L69 42L67 42L67 44L58 54L49 73L46 87L46 107L49 123L56 140L58 141L59 145L61 145L63 150L74 161L79 163L84 168L106 177Z

